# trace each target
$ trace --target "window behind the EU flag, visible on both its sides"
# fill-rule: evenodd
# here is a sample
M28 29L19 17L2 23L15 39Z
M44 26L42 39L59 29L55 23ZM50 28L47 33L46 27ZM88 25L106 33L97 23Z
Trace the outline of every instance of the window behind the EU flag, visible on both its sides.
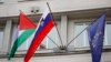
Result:
M88 27L87 23L75 23L74 24L74 37L77 37L82 30ZM103 45L111 45L111 23L105 24L105 32L104 32L104 42ZM87 30L83 31L75 40L74 40L74 48L88 48L89 40L88 40L88 32Z

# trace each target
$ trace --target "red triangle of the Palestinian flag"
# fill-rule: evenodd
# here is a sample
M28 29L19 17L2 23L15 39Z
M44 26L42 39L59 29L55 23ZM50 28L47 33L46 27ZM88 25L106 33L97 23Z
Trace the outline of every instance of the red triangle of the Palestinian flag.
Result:
M19 21L19 30L29 30L36 29L36 24L33 24L22 12L20 13L20 21Z

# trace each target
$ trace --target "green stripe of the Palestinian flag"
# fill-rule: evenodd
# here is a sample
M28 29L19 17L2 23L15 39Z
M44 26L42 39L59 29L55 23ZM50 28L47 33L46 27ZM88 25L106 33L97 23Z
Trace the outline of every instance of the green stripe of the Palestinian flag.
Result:
M32 33L34 32L34 30L27 30L24 31L13 43L13 46L9 53L9 58L8 60L10 60L11 58L14 56L14 53L17 51L17 49L24 42L27 41L27 39L32 35Z

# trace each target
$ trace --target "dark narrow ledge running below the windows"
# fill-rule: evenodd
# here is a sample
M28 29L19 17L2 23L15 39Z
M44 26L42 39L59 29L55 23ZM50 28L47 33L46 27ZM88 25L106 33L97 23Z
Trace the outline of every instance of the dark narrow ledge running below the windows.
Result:
M111 49L103 49L103 52L111 52ZM73 51L73 52L51 52L51 53L34 53L34 56L54 56L54 55L70 55L70 54L85 54L90 50ZM23 58L26 54L16 54L14 58ZM7 59L8 55L0 54L0 59Z

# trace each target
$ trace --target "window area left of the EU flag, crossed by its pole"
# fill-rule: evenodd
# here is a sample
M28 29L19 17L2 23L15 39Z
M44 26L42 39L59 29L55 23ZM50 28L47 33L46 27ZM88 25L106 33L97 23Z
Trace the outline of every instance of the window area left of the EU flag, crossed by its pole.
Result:
M84 30L88 25L87 24L75 24L74 25L74 37L77 37L82 30ZM83 31L75 40L74 40L74 48L83 48L89 46L88 42L88 34L87 30Z

